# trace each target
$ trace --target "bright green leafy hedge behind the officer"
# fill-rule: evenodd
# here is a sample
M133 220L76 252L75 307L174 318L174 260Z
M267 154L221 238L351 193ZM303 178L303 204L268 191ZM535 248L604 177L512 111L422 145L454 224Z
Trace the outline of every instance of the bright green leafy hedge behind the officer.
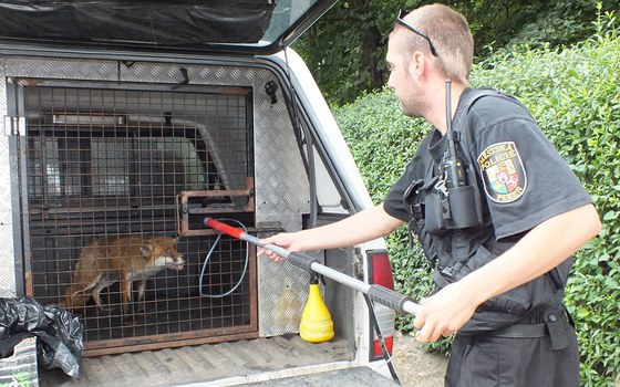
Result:
M598 238L576 254L567 304L579 335L586 386L613 385L620 374L620 40L599 20L599 34L564 50L518 48L475 65L474 86L519 97L596 200L603 219ZM608 31L608 32L602 32ZM334 108L375 202L381 202L431 127L402 115L383 90ZM407 248L404 228L388 238L397 290L420 299L432 289L418 247ZM399 316L399 328L412 330ZM448 341L430 346L446 352Z

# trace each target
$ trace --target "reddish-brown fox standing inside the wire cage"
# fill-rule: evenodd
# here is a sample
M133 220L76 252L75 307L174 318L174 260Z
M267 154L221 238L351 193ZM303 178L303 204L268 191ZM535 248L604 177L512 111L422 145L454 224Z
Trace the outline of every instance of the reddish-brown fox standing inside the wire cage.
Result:
M185 261L177 251L177 240L170 237L95 239L82 249L71 285L59 306L83 308L92 296L102 312L110 311L103 306L100 293L120 282L122 308L127 314L135 281L138 281L138 303L142 305L146 280L164 269L183 270Z

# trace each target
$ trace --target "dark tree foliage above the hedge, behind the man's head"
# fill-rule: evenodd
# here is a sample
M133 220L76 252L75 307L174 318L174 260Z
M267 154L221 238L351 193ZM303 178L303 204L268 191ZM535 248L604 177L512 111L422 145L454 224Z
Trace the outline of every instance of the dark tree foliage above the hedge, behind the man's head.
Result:
M475 53L484 59L513 44L561 46L593 32L598 0L341 0L311 27L293 48L332 104L352 102L386 82L386 38L399 9L442 2L465 14L474 33ZM617 0L602 10L620 11Z

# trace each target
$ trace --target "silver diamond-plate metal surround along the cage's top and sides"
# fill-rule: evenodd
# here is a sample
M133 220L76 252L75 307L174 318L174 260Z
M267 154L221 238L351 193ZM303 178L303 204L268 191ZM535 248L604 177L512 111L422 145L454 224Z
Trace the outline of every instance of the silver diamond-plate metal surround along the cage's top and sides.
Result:
M256 221L276 221L287 231L301 229L302 215L310 209L309 182L293 135L281 87L278 103L265 92L265 83L278 77L271 70L228 66L225 64L147 63L94 61L62 57L2 57L4 76L39 80L179 84L184 81L180 67L187 70L189 85L251 86L254 88ZM0 109L6 112L6 86L0 87ZM3 114L3 116L6 113ZM0 184L10 187L9 147L7 137L0 138ZM14 259L9 190L0 194L0 294L14 293ZM6 221L6 222L4 222ZM298 332L301 312L308 297L308 274L288 263L273 263L258 258L259 331L261 336Z

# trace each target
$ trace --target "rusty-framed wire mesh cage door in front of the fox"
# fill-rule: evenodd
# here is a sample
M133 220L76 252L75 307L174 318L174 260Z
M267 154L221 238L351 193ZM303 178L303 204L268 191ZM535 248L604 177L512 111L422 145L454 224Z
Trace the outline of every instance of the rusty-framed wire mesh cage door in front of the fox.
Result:
M179 192L246 188L254 175L249 91L68 85L28 86L24 94L28 291L82 316L86 355L89 348L124 352L155 341L173 346L179 337L257 331L256 268L245 242L219 244L204 289L200 272L215 237L179 238L180 270L144 257L152 254L145 253L152 238L177 237ZM252 226L254 213L237 198L204 201ZM93 248L97 243L103 247ZM127 278L131 303L123 300ZM200 295L223 293L237 281L225 297ZM103 308L93 291L101 291ZM86 299L84 307L74 305L75 294Z

